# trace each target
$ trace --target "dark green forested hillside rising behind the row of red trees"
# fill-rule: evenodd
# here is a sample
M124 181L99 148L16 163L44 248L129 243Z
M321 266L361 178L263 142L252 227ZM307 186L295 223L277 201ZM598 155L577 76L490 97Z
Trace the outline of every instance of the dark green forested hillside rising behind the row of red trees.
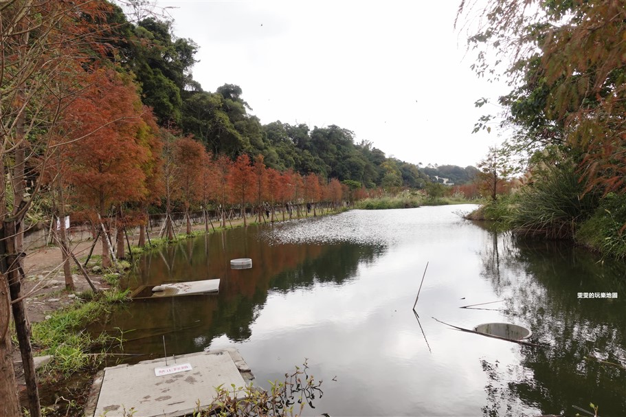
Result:
M118 10L115 21L124 19ZM269 168L357 181L366 188L423 188L429 175L432 180L437 175L386 157L367 140L356 142L348 128L291 125L280 120L262 125L238 85L224 84L214 92L202 89L191 72L197 45L191 39L177 38L166 21L124 21L116 33L122 67L135 76L142 102L153 109L159 126L190 135L214 157L263 155ZM445 167L449 171L440 176L449 174L455 183L472 179L451 172L463 168L439 169Z

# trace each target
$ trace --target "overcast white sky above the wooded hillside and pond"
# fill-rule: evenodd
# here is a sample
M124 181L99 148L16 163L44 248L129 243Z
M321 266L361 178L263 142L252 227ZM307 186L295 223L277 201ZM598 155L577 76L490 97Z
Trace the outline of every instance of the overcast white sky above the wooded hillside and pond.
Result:
M476 165L502 140L471 134L481 114L498 111L473 103L506 91L469 68L456 0L157 4L174 6L175 35L199 45L194 79L205 91L239 85L262 124L336 124L423 165Z

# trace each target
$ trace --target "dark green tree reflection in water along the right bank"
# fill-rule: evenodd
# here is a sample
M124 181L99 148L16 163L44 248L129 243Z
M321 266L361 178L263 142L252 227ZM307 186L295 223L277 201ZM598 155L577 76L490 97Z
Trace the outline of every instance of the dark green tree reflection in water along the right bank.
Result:
M491 232L482 276L504 297L504 314L545 348L520 347L519 365L481 359L489 383L484 416L514 416L521 402L544 414L576 414L590 402L601 415L626 415L626 267L559 241ZM578 293L618 293L579 299ZM586 408L586 407L585 407Z

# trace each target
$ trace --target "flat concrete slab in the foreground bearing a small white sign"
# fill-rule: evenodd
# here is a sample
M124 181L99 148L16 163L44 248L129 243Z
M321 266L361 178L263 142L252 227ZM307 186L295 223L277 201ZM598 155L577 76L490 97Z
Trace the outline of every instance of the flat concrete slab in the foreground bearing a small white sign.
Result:
M206 407L214 400L214 387L232 390L254 379L248 365L234 348L184 354L174 359L142 361L136 365L104 368L96 376L85 416L178 417ZM128 414L126 414L128 415Z

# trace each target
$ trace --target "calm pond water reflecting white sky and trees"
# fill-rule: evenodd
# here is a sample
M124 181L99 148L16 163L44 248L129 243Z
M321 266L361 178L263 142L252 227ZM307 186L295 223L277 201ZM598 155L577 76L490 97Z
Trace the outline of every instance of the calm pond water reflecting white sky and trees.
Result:
M220 278L219 295L137 300L104 330L122 330L124 352L145 355L135 360L159 356L163 335L168 354L235 346L265 387L306 358L324 381L309 415L574 415L590 402L626 415L626 371L610 364L626 363L626 265L491 232L460 217L473 207L353 210L187 240L144 256L130 286ZM253 268L230 269L234 258ZM543 346L433 317L519 324Z

